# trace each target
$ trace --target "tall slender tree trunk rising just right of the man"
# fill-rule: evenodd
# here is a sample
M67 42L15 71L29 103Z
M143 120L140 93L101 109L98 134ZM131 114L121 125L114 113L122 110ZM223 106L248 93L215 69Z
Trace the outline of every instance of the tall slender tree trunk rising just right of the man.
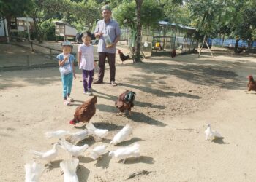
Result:
M143 0L136 1L136 15L137 15L137 45L136 45L136 62L140 61L140 44L141 44L141 22L140 22L140 11Z

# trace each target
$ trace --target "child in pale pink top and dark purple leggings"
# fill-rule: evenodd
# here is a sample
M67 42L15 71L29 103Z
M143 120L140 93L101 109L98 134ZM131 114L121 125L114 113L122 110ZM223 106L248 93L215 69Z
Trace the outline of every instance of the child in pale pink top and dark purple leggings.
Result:
M90 44L91 36L89 31L84 33L83 44L78 47L78 66L83 70L83 93L86 95L92 95L91 84L94 80L94 47Z

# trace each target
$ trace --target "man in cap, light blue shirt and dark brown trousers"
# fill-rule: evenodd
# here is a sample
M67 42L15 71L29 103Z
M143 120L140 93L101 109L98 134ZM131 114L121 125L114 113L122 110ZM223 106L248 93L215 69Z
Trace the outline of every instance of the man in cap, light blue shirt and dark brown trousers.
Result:
M111 9L108 5L102 7L102 17L103 20L97 22L94 34L99 38L98 52L99 52L99 74L98 79L94 84L102 84L105 72L105 60L108 58L108 64L110 66L110 84L116 86L115 76L116 76L116 43L120 39L120 28L118 23L111 19ZM112 44L106 47L105 40L103 38L104 34L108 34Z

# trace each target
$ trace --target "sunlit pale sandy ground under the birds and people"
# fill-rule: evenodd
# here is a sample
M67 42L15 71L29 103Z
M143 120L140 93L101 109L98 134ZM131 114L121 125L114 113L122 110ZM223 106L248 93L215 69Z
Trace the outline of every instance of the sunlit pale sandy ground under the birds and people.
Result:
M126 181L131 173L147 170L148 175L127 181L255 181L256 95L244 92L246 76L256 72L255 56L234 56L223 50L216 50L215 56L204 52L201 58L152 57L136 64L129 60L116 68L118 87L108 84L107 66L106 83L93 85L98 103L91 122L110 134L102 141L89 138L79 144L109 145L129 123L132 135L118 146L138 142L141 157L122 164L108 154L92 161L85 152L80 157L79 180ZM1 181L24 181L23 165L32 160L29 150L52 147L54 141L44 138L46 131L81 130L68 124L75 107L89 98L83 95L77 72L72 107L62 103L58 68L0 72ZM127 89L137 94L133 115L116 116L114 101ZM224 138L205 141L207 123ZM41 181L63 181L59 162L69 155L59 151Z

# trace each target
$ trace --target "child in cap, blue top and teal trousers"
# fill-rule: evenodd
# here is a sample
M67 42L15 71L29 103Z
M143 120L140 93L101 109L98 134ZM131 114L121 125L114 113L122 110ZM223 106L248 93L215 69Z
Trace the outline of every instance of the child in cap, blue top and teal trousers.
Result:
M63 52L57 55L63 85L64 105L66 106L72 106L71 102L74 102L74 99L70 98L73 76L74 79L76 79L74 69L75 57L74 55L70 55L72 48L73 46L69 41L63 41L61 43L61 49Z

